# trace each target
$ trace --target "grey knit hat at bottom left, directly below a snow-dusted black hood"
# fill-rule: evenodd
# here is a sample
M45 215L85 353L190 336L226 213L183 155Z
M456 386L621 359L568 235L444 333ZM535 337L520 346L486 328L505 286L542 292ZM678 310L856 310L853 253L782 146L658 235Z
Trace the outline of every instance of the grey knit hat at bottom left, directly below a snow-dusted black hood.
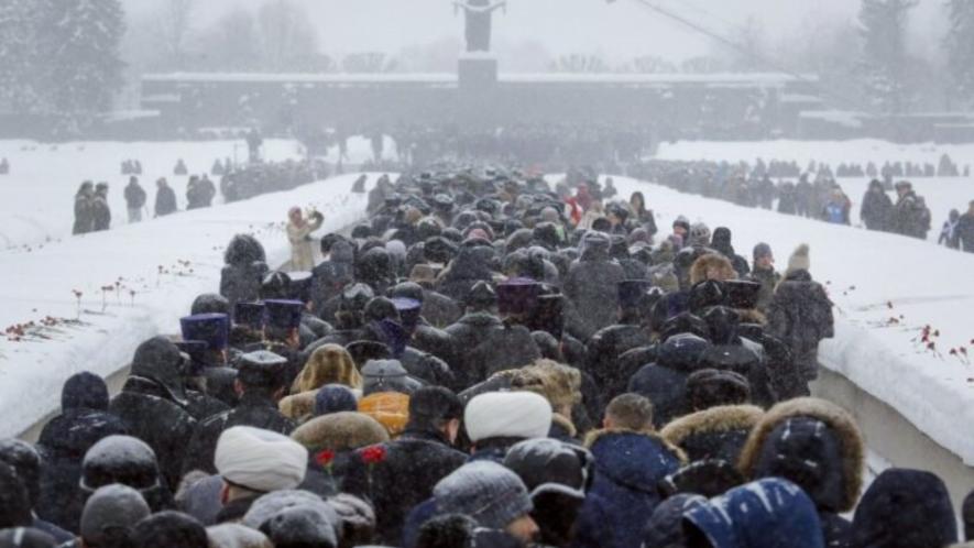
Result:
M99 487L85 503L81 538L88 546L107 545L120 536L128 536L132 525L150 514L149 504L134 489L119 483Z

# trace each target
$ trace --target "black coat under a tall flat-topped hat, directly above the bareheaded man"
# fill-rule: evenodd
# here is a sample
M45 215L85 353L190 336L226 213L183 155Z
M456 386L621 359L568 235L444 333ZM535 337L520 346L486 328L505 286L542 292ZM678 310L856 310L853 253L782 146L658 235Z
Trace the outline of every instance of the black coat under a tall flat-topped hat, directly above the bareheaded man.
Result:
M635 373L635 370L627 371L620 368L619 357L628 350L645 347L652 342L647 329L621 324L600 329L589 339L586 344L584 369L602 388L606 399L625 392L630 376Z

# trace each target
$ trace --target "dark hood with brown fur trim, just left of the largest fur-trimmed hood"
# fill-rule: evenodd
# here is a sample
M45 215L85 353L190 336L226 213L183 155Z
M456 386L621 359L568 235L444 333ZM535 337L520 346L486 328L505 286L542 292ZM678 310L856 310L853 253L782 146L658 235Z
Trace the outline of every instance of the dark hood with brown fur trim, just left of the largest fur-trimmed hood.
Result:
M753 405L727 405L691 413L666 425L659 435L691 461L737 462L751 429L764 410Z

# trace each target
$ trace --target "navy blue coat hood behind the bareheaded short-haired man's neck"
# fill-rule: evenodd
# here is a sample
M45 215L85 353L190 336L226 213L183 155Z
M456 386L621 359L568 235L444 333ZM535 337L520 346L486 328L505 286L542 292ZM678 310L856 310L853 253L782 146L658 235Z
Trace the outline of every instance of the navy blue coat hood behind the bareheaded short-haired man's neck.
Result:
M687 462L681 449L658 435L623 428L594 430L586 447L595 458L597 472L646 493L656 493L659 481Z

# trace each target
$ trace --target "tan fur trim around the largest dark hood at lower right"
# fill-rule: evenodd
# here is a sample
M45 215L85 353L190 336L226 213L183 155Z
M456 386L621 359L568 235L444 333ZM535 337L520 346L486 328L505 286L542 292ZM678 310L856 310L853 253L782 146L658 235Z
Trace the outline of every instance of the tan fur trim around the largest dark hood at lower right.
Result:
M800 397L771 407L751 430L751 436L747 438L744 449L741 450L737 468L745 476L753 478L762 448L771 431L778 425L794 417L809 417L820 420L834 431L839 441L843 475L843 497L835 509L838 512L852 509L858 501L860 490L863 485L865 445L852 416L831 402L814 397Z

